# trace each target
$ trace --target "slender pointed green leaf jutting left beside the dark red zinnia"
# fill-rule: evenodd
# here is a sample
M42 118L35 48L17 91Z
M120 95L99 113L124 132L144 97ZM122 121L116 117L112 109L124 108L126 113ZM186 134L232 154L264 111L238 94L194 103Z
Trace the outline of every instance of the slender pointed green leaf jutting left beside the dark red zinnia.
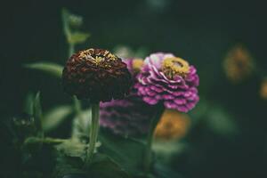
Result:
M30 64L25 64L25 68L28 69L37 69L44 71L48 74L53 75L54 77L61 77L63 67L59 64L52 63L52 62L36 62L36 63L30 63Z

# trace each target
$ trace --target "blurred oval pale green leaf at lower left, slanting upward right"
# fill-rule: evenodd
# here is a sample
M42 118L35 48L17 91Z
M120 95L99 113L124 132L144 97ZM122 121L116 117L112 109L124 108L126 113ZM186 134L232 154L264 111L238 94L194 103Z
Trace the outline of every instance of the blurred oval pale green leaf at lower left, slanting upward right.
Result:
M73 108L70 106L59 106L44 115L43 128L44 132L49 132L60 125L64 119L68 118Z

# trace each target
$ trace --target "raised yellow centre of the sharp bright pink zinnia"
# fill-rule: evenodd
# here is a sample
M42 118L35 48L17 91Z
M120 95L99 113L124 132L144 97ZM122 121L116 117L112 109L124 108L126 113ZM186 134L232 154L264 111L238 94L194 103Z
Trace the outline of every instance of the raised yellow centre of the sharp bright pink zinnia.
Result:
M189 73L190 65L182 58L169 57L162 63L162 70L166 77L174 78L174 76L185 77Z

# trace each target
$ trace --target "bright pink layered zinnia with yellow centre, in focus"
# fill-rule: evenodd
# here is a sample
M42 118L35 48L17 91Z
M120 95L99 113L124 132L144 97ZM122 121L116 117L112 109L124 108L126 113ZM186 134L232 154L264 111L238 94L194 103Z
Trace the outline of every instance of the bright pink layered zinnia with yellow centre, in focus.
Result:
M134 87L150 105L163 102L167 109L187 112L199 100L197 70L171 53L150 54L137 79Z

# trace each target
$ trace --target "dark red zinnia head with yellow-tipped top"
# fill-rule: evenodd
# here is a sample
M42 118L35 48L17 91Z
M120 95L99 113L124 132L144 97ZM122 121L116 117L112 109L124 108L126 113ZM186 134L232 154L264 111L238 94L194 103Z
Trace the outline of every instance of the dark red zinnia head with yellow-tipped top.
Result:
M131 74L116 55L102 49L73 54L62 73L66 93L92 102L121 99L129 93Z

